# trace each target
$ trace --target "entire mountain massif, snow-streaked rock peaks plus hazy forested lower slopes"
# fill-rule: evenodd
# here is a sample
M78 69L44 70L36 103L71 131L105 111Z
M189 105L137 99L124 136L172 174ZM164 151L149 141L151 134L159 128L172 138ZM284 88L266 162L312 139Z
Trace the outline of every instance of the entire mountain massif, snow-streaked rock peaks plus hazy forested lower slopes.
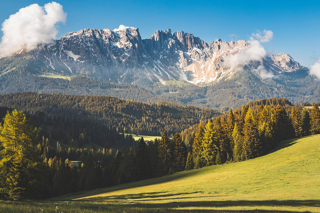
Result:
M266 54L240 67L225 63L250 45L206 43L170 29L148 39L133 27L82 29L0 59L0 93L109 95L220 110L262 98L320 101L319 81L288 54Z

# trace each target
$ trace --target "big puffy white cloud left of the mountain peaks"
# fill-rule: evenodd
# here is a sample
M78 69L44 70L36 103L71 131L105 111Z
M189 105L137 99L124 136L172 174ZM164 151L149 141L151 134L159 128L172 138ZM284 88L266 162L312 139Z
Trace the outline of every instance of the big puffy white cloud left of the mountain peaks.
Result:
M22 48L32 50L38 44L50 43L58 33L56 24L65 22L67 13L56 2L31 4L21 8L2 23L3 36L0 43L0 58Z

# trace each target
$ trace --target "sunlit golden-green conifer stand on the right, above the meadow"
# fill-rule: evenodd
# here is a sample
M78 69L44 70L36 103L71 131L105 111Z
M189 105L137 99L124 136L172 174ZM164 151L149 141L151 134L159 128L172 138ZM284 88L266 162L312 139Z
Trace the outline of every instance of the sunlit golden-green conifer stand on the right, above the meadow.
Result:
M182 133L192 147L186 169L252 159L267 153L281 140L318 134L320 110L317 104L304 109L287 99L263 99L195 128L196 125Z

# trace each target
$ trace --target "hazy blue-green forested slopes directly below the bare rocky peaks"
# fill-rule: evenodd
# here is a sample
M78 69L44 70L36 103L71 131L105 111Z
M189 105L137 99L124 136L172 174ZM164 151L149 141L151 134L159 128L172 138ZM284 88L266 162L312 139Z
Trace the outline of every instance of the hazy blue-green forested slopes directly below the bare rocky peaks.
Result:
M68 79L64 79L66 77ZM0 60L0 94L23 91L106 95L145 103L164 101L225 111L263 98L287 97L293 103L320 101L319 81L305 70L283 72L272 79L260 79L254 70L244 67L229 80L213 84L195 85L179 79L141 87L66 75L48 70L31 59Z

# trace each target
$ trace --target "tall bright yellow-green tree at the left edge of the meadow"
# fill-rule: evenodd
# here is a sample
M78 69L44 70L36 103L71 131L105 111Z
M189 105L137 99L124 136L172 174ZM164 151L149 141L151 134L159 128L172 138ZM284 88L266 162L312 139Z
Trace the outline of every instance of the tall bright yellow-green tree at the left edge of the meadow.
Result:
M38 193L43 178L38 132L16 109L0 125L0 188L10 198Z

